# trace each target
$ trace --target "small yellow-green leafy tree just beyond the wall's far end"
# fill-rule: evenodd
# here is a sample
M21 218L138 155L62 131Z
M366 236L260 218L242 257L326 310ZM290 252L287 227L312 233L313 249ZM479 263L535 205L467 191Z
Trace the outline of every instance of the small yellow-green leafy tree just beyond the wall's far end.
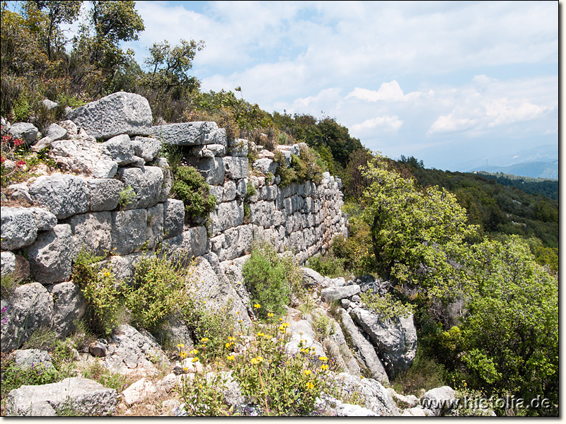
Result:
M456 281L466 278L457 261L466 251L463 240L476 230L466 224L466 210L444 189L418 189L380 155L362 176L371 181L364 192L364 218L378 270L445 298Z

